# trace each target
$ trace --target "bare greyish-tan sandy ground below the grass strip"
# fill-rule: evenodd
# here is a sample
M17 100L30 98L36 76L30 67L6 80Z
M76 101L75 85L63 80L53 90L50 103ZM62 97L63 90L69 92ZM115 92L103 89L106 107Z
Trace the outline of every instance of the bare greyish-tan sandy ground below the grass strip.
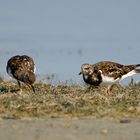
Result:
M96 119L1 120L0 140L139 140L140 121Z

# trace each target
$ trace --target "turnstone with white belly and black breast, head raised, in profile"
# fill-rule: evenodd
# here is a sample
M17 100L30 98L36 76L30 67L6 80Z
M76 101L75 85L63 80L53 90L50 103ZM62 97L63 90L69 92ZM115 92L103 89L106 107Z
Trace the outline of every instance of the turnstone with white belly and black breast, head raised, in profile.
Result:
M95 64L83 64L79 75L83 75L87 84L108 85L107 93L112 94L114 84L137 73L140 73L140 64L123 65L112 61L100 61Z

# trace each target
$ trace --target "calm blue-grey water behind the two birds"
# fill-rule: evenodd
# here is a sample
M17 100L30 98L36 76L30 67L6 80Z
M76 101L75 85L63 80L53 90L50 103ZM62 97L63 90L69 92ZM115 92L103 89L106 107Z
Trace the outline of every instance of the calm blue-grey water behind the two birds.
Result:
M83 63L140 63L140 1L0 1L0 75L17 54L34 58L38 80L55 82L81 83Z

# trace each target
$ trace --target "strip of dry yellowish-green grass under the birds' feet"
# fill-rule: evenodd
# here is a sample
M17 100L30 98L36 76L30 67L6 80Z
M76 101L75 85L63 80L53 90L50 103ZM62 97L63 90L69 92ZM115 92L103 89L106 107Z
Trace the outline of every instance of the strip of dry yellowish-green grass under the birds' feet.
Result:
M140 118L140 85L114 87L112 96L106 89L38 83L36 93L26 87L19 94L17 84L0 83L0 117L93 117L107 119Z

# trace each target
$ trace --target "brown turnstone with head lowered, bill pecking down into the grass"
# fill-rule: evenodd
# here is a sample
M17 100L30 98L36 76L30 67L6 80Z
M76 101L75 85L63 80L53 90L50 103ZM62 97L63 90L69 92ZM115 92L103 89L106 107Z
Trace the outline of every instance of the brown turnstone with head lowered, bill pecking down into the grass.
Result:
M20 82L23 82L32 88L33 92L35 92L35 88L33 86L36 80L35 64L31 57L27 55L16 55L11 57L7 62L6 70L11 77L18 81L20 89Z

